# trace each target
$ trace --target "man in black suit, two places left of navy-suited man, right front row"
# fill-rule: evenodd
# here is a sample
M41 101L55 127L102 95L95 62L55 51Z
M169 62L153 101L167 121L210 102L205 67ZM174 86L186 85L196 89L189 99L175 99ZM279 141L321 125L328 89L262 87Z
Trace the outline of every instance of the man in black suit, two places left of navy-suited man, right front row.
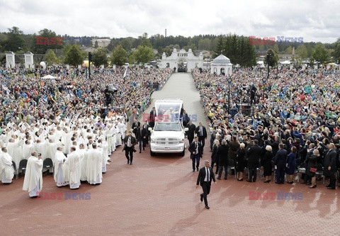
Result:
M249 179L247 182L256 182L256 168L259 168L259 162L261 157L261 147L259 147L259 141L254 140L254 144L249 147L248 154L248 169Z

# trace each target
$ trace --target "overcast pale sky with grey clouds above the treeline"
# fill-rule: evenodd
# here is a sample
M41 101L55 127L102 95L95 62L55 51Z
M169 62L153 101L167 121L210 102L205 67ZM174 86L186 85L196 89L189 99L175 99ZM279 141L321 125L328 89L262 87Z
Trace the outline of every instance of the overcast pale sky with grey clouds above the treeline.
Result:
M340 38L339 0L0 0L0 31L47 28L60 35L137 38L227 34L334 43Z

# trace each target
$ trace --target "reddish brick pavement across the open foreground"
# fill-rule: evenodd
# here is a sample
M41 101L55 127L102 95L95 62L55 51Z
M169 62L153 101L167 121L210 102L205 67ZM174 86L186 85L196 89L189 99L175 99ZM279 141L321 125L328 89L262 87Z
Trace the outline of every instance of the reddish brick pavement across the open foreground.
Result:
M91 200L30 199L22 191L23 177L0 185L0 235L339 235L339 189L316 189L302 184L280 185L227 180L212 185L210 210L196 189L198 172L191 159L173 154L135 153L126 164L121 147L113 153L103 184L81 184L76 193ZM205 157L210 157L205 148ZM210 159L210 158L209 158ZM200 164L203 166L203 164ZM58 188L43 177L44 192ZM303 200L249 200L249 191L302 192Z

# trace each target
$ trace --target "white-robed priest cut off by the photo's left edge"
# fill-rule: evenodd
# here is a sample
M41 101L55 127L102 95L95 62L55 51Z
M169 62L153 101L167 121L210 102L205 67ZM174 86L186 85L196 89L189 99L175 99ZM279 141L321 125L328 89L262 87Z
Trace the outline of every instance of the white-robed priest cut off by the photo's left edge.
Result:
M12 157L8 154L6 147L1 148L0 154L0 174L3 184L11 184L14 176Z

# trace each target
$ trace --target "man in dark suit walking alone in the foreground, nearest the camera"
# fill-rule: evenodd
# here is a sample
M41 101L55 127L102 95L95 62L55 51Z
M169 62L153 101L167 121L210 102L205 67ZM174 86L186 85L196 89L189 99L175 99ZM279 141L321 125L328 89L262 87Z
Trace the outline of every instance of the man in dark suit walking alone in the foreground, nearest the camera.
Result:
M198 188L198 184L202 186L203 193L200 193L200 201L203 201L204 198L205 208L209 209L210 207L208 206L207 196L210 193L211 180L213 180L215 184L217 183L215 180L215 174L210 167L209 161L204 161L204 164L205 167L201 168L200 172L198 173L196 188Z

